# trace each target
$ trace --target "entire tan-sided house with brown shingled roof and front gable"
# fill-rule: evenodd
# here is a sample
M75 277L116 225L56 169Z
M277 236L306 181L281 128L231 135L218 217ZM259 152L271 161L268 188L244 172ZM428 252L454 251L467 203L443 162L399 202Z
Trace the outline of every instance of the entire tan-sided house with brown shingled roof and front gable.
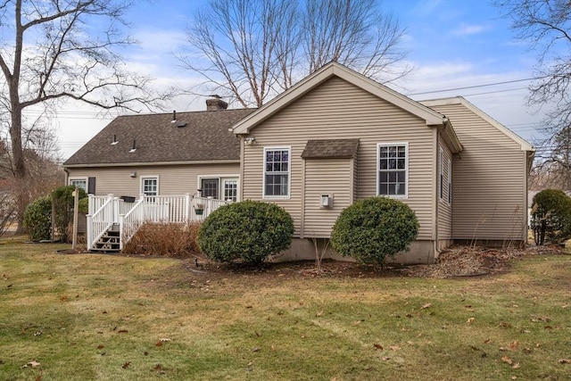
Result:
M416 102L332 62L258 110L214 107L172 120L113 120L64 163L69 181L96 181L95 195L200 187L277 203L294 218L287 259L311 258L312 238L327 238L343 208L375 195L417 214L418 239L399 262L432 262L456 241L526 240L534 150L461 97Z

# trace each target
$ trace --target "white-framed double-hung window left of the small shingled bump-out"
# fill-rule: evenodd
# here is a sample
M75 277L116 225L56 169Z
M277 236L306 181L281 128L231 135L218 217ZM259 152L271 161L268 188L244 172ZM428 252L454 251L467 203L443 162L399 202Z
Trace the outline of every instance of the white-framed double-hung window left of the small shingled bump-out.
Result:
M264 198L289 197L290 167L290 147L264 148Z

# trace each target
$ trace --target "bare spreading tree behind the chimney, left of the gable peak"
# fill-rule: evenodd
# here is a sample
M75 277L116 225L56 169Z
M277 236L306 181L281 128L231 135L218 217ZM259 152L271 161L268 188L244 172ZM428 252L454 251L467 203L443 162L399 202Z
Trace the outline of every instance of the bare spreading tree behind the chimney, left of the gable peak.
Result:
M194 49L179 58L203 76L210 91L231 96L244 107L261 106L276 87L291 86L295 19L294 2L212 1L195 14L188 29Z

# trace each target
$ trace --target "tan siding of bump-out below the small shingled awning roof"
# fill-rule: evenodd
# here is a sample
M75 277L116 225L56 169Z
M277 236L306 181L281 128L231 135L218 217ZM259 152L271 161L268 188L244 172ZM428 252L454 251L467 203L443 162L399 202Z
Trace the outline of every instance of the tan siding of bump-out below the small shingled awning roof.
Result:
M351 159L322 159L305 161L305 237L328 238L335 219L351 205L349 182L352 179ZM321 195L333 195L333 206L320 206Z

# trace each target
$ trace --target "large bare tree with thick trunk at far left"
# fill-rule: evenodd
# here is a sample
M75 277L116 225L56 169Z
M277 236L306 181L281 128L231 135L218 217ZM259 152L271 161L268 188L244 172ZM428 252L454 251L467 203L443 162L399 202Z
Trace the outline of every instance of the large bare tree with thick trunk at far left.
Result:
M117 51L134 41L123 32L128 0L2 0L0 107L10 115L12 170L25 186L22 112L75 100L134 110L160 99L149 79L126 69ZM25 205L27 200L21 200Z

